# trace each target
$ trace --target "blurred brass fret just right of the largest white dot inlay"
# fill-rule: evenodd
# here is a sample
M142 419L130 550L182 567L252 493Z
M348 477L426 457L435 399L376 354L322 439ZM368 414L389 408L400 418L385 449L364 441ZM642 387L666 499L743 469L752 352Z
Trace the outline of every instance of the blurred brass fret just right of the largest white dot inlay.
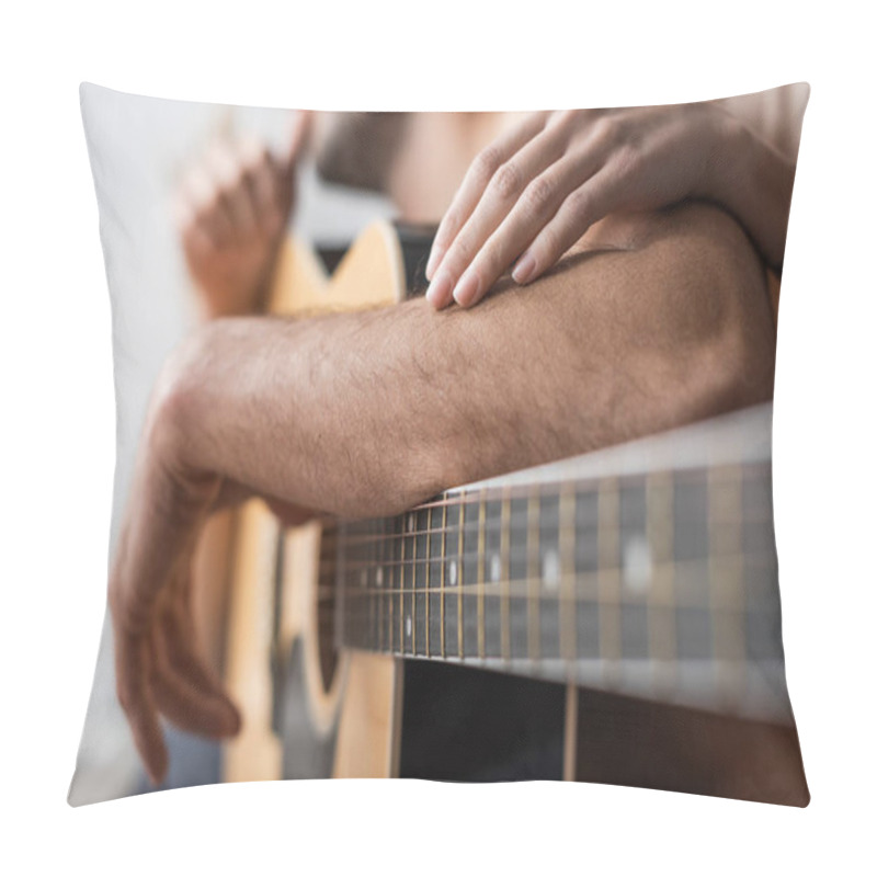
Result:
M654 472L646 486L651 583L648 594L649 651L656 691L670 697L675 684L676 627L674 612L673 478Z

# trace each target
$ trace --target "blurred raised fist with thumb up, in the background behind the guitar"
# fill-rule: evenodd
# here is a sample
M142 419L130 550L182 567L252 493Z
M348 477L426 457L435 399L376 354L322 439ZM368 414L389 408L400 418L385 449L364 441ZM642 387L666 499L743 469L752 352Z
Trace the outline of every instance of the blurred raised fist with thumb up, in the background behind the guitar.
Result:
M294 201L308 115L296 115L284 153L261 144L215 144L186 175L178 224L205 316L261 308Z

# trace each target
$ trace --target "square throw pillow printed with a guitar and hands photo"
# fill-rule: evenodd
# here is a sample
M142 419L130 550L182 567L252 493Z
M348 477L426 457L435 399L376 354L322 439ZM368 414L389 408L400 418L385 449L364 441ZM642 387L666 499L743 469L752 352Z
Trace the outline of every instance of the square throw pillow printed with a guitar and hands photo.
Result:
M401 776L806 806L771 420L808 93L83 84L118 447L69 801Z

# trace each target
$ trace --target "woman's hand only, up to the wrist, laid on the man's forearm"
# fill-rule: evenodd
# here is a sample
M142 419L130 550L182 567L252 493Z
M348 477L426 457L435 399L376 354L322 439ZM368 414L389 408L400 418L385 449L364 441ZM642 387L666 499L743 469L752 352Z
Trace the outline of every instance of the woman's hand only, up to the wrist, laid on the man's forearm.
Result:
M714 197L740 128L710 103L527 116L469 168L432 247L428 299L470 307L515 260L528 283L611 213Z

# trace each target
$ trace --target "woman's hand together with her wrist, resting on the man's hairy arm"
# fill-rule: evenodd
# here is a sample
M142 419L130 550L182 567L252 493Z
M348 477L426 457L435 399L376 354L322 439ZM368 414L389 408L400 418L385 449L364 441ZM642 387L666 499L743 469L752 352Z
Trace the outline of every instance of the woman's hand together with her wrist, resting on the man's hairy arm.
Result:
M786 91L806 102L807 86ZM744 112L732 100L527 115L464 178L435 236L426 297L471 307L512 263L516 283L538 277L604 216L690 197L725 206L779 270L797 150L778 144L800 116L759 132Z

